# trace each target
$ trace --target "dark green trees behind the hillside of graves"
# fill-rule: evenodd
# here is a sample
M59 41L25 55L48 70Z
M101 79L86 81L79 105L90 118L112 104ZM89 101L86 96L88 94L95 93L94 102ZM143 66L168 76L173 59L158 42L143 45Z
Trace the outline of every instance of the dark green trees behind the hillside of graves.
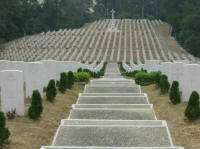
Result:
M161 19L173 26L173 35L190 53L200 57L200 1L198 0L1 0L0 40L78 28L87 22L111 18Z

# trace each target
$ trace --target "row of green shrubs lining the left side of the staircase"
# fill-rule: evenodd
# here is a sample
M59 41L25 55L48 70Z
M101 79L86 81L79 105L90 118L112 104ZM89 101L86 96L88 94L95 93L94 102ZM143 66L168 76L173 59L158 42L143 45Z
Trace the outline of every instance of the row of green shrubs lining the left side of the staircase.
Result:
M66 89L72 89L74 82L88 83L90 77L99 78L103 76L105 71L105 66L106 63L104 63L103 68L97 73L91 72L88 69L82 70L81 68L78 69L78 72L76 73L73 73L72 71L67 73L66 72L61 73L60 80L58 82L55 83L55 80L49 81L48 86L45 89L46 99L49 102L54 101L57 94L56 86L58 87L58 90L61 93L65 93ZM31 97L31 105L28 109L28 116L31 119L38 119L41 116L42 112L43 112L42 97L38 90L34 90ZM14 117L13 114L15 114L15 112L9 114L9 117L13 118ZM3 142L9 138L9 136L10 136L10 131L8 130L8 128L6 128L6 117L3 112L0 112L0 148Z

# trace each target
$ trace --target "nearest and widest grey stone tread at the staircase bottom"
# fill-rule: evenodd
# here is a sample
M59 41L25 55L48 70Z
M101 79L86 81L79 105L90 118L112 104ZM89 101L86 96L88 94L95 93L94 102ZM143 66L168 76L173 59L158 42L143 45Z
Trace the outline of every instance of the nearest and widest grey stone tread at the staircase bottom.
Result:
M60 126L54 146L172 146L166 126Z

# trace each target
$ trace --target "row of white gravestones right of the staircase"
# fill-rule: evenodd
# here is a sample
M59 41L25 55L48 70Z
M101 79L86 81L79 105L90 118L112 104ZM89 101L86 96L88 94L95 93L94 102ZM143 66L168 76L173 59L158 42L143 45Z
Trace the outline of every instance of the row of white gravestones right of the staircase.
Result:
M128 67L126 67L128 68ZM132 66L136 70L138 66ZM182 91L182 101L187 102L192 91L200 93L200 64L188 64L188 62L161 62L158 60L147 60L140 68L148 72L161 71L168 76L169 83L178 81ZM128 71L128 70L127 70Z

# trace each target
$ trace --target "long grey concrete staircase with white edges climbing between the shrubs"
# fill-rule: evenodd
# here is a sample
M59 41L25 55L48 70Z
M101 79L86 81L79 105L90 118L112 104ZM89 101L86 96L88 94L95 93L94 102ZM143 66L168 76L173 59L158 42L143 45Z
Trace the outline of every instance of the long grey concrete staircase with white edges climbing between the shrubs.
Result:
M157 120L148 96L108 64L61 121L52 146L41 149L183 149L174 147L166 121Z

